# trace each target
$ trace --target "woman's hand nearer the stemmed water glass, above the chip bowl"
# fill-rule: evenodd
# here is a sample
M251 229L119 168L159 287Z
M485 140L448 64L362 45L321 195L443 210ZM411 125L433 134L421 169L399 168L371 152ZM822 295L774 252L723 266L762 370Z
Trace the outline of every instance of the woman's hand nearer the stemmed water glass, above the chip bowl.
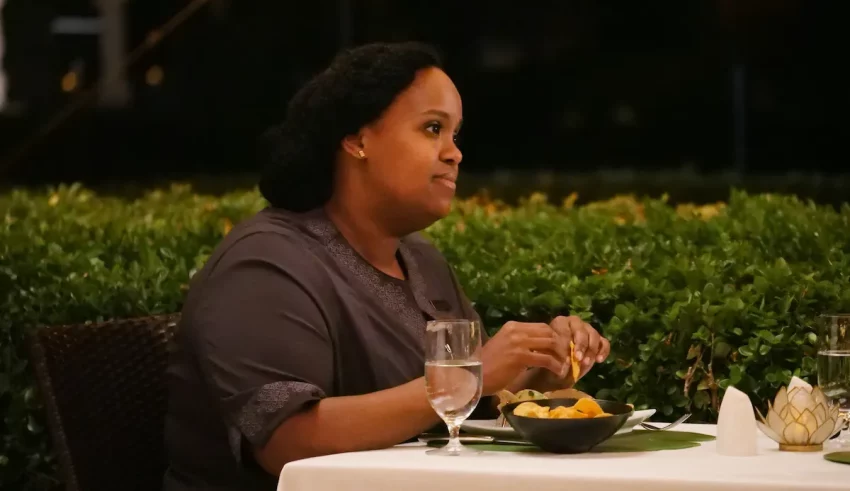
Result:
M567 345L548 324L508 322L482 350L482 395L499 392L530 367L564 377L570 366Z

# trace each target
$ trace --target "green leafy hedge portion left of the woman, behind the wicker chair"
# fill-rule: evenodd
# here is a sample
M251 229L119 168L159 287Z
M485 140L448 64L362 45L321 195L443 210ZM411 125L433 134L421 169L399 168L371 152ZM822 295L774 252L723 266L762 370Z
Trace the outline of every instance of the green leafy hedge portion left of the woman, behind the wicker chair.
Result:
M256 193L214 199L188 188L133 202L80 187L0 197L0 488L42 489L56 475L25 334L178 311L192 270L263 205Z

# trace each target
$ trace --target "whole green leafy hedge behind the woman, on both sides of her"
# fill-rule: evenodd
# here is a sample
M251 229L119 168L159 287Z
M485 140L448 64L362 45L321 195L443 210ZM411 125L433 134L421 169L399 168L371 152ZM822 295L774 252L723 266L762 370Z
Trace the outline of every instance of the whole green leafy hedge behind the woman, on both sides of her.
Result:
M602 397L714 421L729 384L754 401L812 377L815 316L850 310L850 207L733 193L673 207L617 198L516 208L471 199L428 234L492 331L574 313L612 341L582 381ZM40 325L178 311L187 280L254 191L175 187L134 201L80 187L0 196L0 484L55 481L24 347Z

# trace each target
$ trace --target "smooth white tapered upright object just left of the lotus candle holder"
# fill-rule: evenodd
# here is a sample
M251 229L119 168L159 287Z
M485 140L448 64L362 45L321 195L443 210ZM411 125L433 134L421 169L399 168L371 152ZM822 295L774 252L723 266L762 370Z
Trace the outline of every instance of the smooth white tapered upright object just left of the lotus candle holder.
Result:
M756 455L756 417L746 394L729 386L720 403L717 453L729 457Z

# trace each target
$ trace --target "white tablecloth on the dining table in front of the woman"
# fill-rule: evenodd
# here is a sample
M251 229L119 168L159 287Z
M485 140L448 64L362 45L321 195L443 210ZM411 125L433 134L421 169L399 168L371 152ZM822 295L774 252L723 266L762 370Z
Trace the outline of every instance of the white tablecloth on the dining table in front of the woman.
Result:
M683 424L676 430L713 435L715 429ZM758 441L752 457L718 455L713 441L658 452L471 457L425 455L427 447L410 444L292 462L278 491L850 490L850 465L828 462L823 452L780 452L761 433Z

